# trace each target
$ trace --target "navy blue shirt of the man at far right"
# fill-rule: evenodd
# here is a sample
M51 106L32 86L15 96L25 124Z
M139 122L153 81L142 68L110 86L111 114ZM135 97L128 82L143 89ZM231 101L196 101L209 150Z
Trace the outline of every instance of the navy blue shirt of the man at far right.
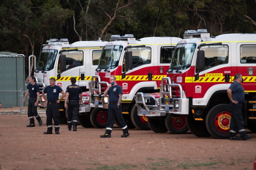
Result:
M243 101L244 101L244 88L243 88L243 86L240 83L234 81L230 85L229 88L232 90L233 100L238 101L239 103L243 103Z

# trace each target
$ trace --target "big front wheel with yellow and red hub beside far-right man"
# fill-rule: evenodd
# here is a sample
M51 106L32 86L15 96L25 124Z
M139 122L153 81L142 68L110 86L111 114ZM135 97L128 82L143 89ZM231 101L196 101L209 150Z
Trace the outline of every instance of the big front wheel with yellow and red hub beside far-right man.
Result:
M231 109L228 104L219 104L211 108L206 115L206 128L217 139L229 138Z

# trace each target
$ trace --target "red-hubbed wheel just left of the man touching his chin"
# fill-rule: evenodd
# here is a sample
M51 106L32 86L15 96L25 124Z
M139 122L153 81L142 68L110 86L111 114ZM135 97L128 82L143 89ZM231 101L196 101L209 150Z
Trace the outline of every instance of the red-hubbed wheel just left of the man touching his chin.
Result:
M102 111L100 108L94 108L90 114L91 124L99 129L106 128L108 120L108 112Z

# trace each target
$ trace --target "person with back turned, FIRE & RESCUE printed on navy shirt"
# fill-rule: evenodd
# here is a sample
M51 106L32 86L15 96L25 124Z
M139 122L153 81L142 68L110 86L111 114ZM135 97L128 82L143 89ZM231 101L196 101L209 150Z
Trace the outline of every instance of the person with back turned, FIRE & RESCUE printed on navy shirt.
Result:
M77 130L78 115L79 115L79 103L82 103L83 91L79 85L75 84L75 77L71 78L71 85L67 86L65 96L65 108L67 109L67 126L68 130L71 130L73 122L73 131ZM67 103L68 100L68 103Z

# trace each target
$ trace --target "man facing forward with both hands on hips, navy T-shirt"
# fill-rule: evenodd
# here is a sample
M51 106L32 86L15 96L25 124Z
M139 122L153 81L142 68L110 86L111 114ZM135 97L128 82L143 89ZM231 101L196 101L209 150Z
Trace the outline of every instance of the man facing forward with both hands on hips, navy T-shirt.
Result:
M55 128L55 134L60 134L60 111L59 111L59 103L65 97L65 92L57 85L55 85L56 80L54 77L50 78L50 85L46 86L42 92L42 97L45 99L47 103L46 108L46 125L47 131L44 134L53 134L53 122ZM59 99L59 93L62 94ZM47 98L45 97L47 94ZM52 121L53 119L53 121Z

